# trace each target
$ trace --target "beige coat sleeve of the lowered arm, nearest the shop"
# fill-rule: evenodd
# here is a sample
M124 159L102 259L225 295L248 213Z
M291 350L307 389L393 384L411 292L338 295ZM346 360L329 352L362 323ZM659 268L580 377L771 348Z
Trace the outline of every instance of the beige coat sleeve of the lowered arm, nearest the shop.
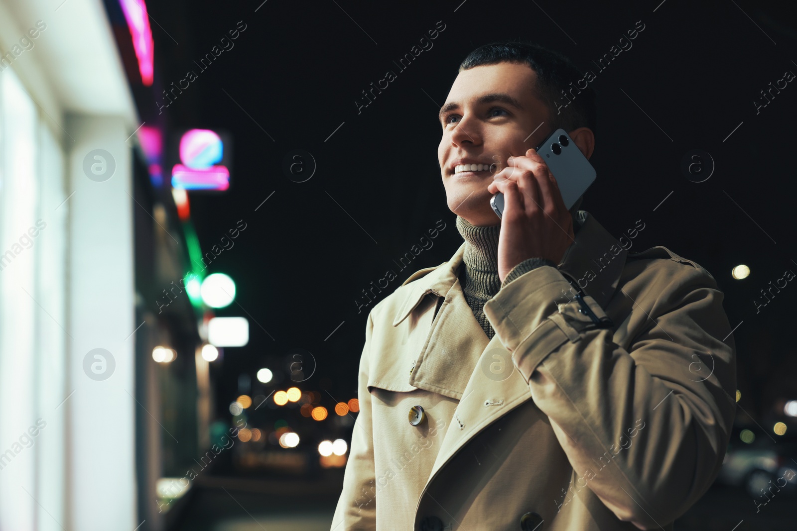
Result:
M371 393L368 392L368 361L374 330L372 311L365 329L365 346L359 359L357 400L359 413L351 431L344 486L338 498L330 531L376 529L376 484L374 440L371 423Z

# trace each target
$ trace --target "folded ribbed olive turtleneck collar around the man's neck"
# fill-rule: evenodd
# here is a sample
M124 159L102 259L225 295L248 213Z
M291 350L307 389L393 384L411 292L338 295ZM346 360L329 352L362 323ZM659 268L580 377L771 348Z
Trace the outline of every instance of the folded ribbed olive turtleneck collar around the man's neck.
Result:
M465 240L462 261L464 271L460 271L462 289L465 295L486 301L501 289L498 276L498 235L501 225L476 227L457 216L457 230ZM462 282L464 279L464 282Z

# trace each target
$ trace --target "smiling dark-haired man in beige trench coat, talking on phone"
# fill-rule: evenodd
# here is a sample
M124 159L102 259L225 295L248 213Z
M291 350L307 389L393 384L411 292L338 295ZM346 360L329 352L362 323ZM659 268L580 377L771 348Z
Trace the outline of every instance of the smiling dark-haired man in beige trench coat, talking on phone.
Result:
M530 149L563 127L591 156L591 90L556 103L581 77L521 43L461 64L438 157L465 241L368 316L333 531L673 529L716 477L736 407L717 283L568 212Z

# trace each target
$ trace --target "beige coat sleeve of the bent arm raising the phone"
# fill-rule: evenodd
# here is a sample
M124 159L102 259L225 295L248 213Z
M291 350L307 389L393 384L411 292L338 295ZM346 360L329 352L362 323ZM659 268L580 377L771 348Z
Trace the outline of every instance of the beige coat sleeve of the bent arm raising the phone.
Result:
M563 297L571 284L556 267L520 275L485 304L575 470L569 489L587 486L639 529L674 521L709 489L736 409L723 293L702 267L655 267L629 300L627 350ZM583 301L606 317L591 296Z

